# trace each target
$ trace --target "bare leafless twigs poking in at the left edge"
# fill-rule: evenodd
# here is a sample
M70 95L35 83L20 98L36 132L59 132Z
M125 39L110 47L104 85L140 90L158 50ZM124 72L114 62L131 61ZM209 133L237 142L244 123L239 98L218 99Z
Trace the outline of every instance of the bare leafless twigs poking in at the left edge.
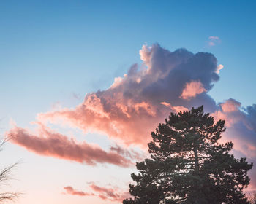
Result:
M3 141L1 141L0 143L0 151L1 151L1 147L4 145L4 143L8 140L8 138L4 139ZM6 168L3 168L0 171L0 184L4 184L6 181L9 181L10 179L10 172L13 168L15 168L15 166L17 165L17 163L13 164L13 165L9 165ZM18 197L19 193L18 192L0 192L0 203L4 203L7 200L14 200L15 197Z

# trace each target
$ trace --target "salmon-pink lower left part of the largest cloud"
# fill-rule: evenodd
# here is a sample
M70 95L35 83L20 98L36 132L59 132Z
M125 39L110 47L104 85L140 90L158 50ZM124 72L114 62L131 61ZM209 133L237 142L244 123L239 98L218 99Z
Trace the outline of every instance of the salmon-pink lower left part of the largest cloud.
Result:
M92 99L93 98L93 99ZM47 112L39 114L39 121L64 122L72 127L79 127L87 132L107 133L110 138L121 138L127 136L125 144L143 144L146 146L145 138L139 135L147 136L151 125L157 125L159 114L157 109L150 103L132 101L116 101L116 98L106 98L100 102L100 98L95 94L86 95L85 101L75 109L62 109L61 111ZM103 102L103 103L102 103ZM117 103L116 103L117 102ZM108 106L108 111L103 109ZM138 124L144 125L143 128Z

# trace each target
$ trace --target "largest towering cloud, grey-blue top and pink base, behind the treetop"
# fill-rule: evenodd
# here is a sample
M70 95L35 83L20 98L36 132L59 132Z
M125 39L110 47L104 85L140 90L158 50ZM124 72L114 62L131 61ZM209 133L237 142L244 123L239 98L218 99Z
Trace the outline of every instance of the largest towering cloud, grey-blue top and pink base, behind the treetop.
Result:
M199 104L215 111L215 101L206 94L219 80L214 55L204 52L194 55L185 49L170 52L159 44L144 45L140 55L143 65L131 66L107 90L87 94L75 109L41 113L37 119L78 127L85 133L105 133L126 145L146 147L152 127L163 122L170 111ZM186 99L180 98L186 86ZM163 105L164 102L170 106Z

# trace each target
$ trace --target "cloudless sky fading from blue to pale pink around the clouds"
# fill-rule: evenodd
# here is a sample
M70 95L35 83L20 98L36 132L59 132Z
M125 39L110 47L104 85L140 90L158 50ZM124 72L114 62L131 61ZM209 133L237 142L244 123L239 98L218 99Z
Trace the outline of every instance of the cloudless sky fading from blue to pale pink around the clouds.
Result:
M108 90L114 78L123 77L134 63L146 66L139 54L143 44L158 43L170 52L178 48L194 54L211 52L224 68L214 87L206 88L208 95L216 103L235 107L233 101L224 102L233 98L241 103L240 110L252 106L255 6L255 1L0 1L1 135L14 122L34 130L31 122L38 113L75 109L86 94ZM218 107L225 112L222 105L217 105L218 117ZM251 114L246 112L247 116ZM119 142L103 129L85 133L65 124L48 127L106 151ZM254 161L256 133L250 134L252 154L246 157ZM133 143L132 148L140 152ZM13 171L15 180L7 187L23 192L20 204L113 203L109 200L113 197L106 195L111 189L118 195L127 192L130 173L135 171L45 157L11 143L0 155L2 166L20 161ZM69 186L95 195L71 195L64 189Z

